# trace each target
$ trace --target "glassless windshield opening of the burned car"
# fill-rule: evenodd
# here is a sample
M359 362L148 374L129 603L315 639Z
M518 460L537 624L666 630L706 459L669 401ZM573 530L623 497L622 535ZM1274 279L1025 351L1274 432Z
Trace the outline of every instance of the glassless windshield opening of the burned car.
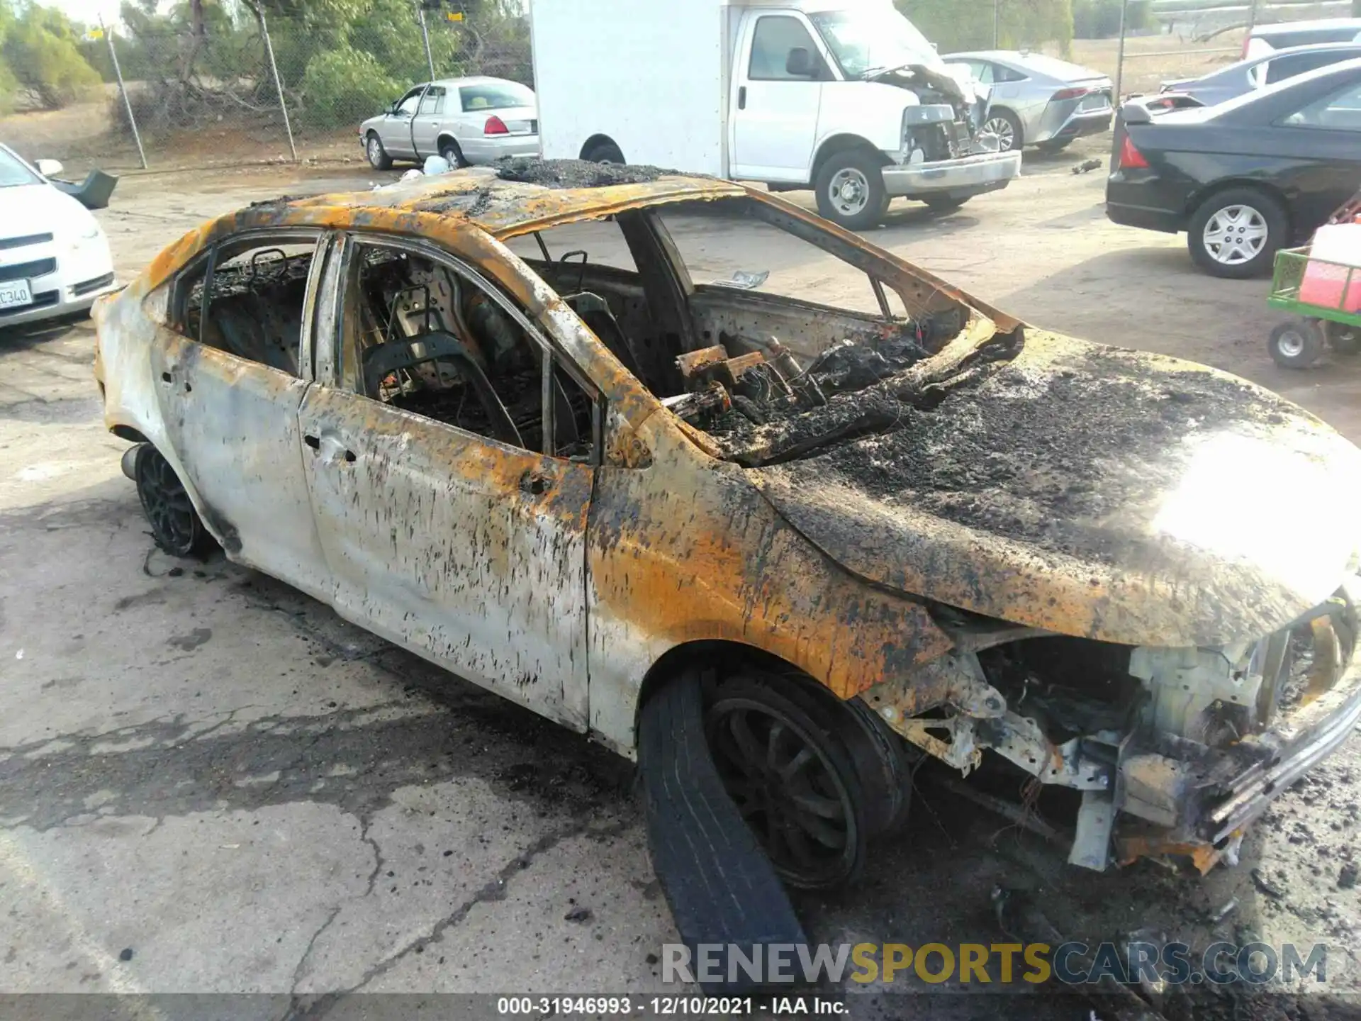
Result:
M725 425L740 432L725 415L764 425L821 407L813 395L822 383L830 396L868 387L962 327L962 308L912 314L902 294L832 242L749 207L738 199L627 211L534 231L510 248L672 412L720 436ZM746 250L780 256L757 268ZM829 279L845 280L847 306L800 297ZM751 457L735 448L735 460Z

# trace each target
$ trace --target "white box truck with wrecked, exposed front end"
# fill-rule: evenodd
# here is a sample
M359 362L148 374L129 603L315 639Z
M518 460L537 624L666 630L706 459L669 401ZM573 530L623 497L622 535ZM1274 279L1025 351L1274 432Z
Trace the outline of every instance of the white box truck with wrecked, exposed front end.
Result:
M531 0L529 22L548 159L811 187L849 229L1021 169L979 151L985 97L890 0Z

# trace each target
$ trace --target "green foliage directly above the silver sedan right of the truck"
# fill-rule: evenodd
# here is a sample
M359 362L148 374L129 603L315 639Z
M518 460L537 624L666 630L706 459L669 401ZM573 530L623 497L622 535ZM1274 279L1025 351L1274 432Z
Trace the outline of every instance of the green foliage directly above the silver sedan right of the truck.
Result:
M1072 0L896 0L942 53L1072 41Z

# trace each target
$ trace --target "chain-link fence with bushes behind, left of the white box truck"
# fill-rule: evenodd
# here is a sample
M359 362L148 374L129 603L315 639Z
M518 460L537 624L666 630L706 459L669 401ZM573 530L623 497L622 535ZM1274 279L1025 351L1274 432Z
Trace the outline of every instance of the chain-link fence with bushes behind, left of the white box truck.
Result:
M114 170L361 161L359 123L415 83L478 74L532 84L519 14L450 19L411 0L380 0L344 22L244 7L197 23L129 14L83 44L103 90L7 121L30 155Z

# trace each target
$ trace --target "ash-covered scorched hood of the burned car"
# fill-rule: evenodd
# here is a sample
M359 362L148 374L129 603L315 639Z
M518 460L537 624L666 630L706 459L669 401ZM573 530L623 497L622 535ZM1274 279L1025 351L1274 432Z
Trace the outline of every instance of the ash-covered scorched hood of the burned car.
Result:
M1106 641L1255 638L1354 568L1361 451L1268 391L1038 331L981 374L749 478L871 581Z

